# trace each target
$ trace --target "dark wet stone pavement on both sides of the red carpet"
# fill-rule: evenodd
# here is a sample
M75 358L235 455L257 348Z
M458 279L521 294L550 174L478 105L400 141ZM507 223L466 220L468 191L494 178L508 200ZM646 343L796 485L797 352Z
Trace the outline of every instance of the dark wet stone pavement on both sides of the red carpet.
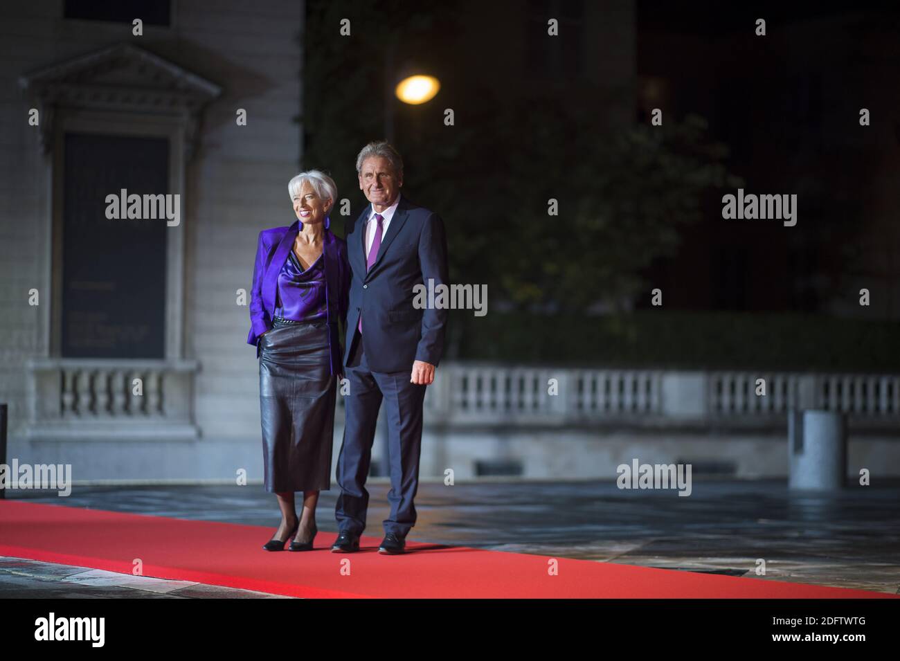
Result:
M383 535L384 480L370 481L365 534ZM321 492L319 530L337 531L337 486ZM73 487L29 502L245 523L280 514L260 485ZM301 498L297 497L300 505ZM613 482L421 482L410 539L729 576L900 594L900 484L800 494L781 480L693 482L676 491ZM260 540L260 545L271 538ZM260 553L265 553L260 549ZM756 567L765 561L765 576ZM0 597L270 597L247 590L0 558Z

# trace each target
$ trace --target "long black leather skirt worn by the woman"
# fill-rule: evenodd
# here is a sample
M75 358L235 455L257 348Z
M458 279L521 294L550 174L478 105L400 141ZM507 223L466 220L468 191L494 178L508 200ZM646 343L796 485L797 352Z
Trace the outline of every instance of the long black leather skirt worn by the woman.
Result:
M330 489L338 380L329 368L329 327L276 319L259 343L266 491Z

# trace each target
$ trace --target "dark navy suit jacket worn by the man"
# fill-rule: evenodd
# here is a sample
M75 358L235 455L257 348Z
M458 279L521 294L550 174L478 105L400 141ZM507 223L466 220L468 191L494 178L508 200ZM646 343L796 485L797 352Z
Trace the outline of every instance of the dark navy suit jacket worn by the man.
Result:
M372 371L412 371L413 361L437 365L444 353L446 309L417 309L413 287L447 285L444 221L401 195L372 268L365 268L365 221L372 205L347 225L353 278L344 364L363 316L363 350Z

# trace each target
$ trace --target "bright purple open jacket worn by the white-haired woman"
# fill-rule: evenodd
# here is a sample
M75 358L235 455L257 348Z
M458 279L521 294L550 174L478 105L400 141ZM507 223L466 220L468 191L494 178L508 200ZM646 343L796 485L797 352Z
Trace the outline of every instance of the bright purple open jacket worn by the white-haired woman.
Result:
M325 299L328 310L331 373L343 373L338 321L347 326L347 296L350 290L350 264L347 261L347 242L336 237L326 220L325 245L322 247L325 266ZM259 335L272 327L275 312L275 292L278 273L293 248L300 231L300 221L289 228L264 229L259 233L257 261L253 266L253 286L250 290L250 333L247 344L256 344L259 357Z

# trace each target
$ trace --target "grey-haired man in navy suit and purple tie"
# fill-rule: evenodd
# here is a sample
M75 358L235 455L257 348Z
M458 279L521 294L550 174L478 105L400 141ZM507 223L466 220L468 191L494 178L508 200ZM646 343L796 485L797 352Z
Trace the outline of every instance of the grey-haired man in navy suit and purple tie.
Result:
M356 157L359 188L372 204L347 228L352 271L344 363L349 381L344 442L338 455L341 492L332 551L359 550L365 529L372 442L385 405L391 514L380 553L402 553L416 523L422 402L444 350L446 309L413 307L413 287L447 281L446 236L437 213L401 196L403 161L387 142Z

